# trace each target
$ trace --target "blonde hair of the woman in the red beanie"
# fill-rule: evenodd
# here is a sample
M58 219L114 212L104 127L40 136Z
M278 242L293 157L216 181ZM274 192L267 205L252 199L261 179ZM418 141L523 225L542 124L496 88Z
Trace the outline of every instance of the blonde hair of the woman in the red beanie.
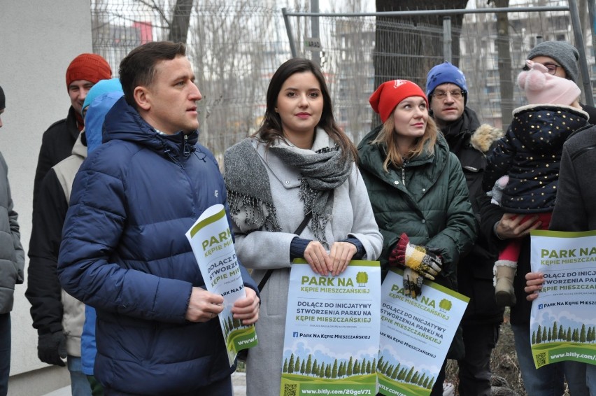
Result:
M371 144L381 143L385 145L387 157L385 157L385 161L383 162L383 169L385 169L385 172L388 172L390 166L401 168L404 164L404 160L418 157L418 155L423 153L434 153L434 143L437 142L437 133L437 124L435 124L434 120L429 117L423 136L420 136L420 138L416 140L416 144L410 148L404 158L397 146L398 136L397 131L395 131L395 122L393 122L393 117L389 117L383 122L381 132L378 133L376 139L374 139Z

